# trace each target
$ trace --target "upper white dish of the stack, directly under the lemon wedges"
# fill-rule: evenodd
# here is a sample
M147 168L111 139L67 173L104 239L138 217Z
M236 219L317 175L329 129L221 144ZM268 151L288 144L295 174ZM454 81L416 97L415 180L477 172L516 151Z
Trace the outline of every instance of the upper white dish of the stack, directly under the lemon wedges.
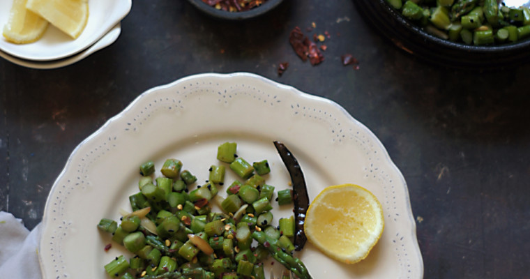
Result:
M13 0L0 1L0 30L8 21L12 3ZM0 50L31 61L64 59L85 50L109 33L129 13L131 5L131 0L89 0L89 20L79 38L73 40L50 24L35 43L17 45L1 36Z

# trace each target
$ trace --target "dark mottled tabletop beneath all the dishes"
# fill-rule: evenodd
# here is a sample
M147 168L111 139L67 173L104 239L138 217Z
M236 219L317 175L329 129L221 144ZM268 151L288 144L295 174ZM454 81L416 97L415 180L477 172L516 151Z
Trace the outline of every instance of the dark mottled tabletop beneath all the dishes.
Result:
M146 89L247 71L335 100L379 137L409 186L425 278L530 278L530 63L448 69L395 47L353 1L285 2L220 22L184 0L134 1L116 43L73 66L1 59L0 210L35 227L70 152ZM288 40L312 22L330 34L318 66Z

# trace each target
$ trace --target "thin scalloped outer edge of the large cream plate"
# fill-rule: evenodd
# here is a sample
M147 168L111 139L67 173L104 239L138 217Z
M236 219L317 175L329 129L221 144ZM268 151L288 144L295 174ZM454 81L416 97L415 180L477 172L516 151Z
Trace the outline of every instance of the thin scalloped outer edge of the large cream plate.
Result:
M57 176L56 180L54 181L54 183L52 185L52 188L50 188L50 193L48 194L47 202L45 204L43 220L42 220L42 223L41 223L42 225L41 225L40 235L39 235L39 242L38 242L38 250L39 250L39 252L38 252L38 260L39 260L40 270L41 270L43 278L46 278L45 277L46 276L46 274L45 274L46 266L44 266L43 252L42 252L43 251L43 246L45 246L43 236L45 234L45 230L48 227L48 223L50 222L49 210L50 210L50 206L51 206L51 197L52 197L52 194L54 194L55 191L59 188L59 181L61 181L61 179L63 179L63 177L66 176L67 171L69 170L69 167L71 167L70 163L77 156L77 153L79 152L79 149L82 149L82 147L85 146L88 142L90 142L94 138L98 137L98 135L100 135L100 133L103 133L103 131L105 131L109 126L111 126L112 123L114 123L115 121L120 119L124 114L127 114L128 112L130 112L130 110L132 110L132 107L135 107L137 105L137 103L139 103L142 100L142 98L144 98L145 96L147 96L147 95L149 95L149 94L151 94L153 92L159 91L159 90L172 88L173 86L176 86L176 84L187 82L188 80L195 80L197 78L204 78L204 77L218 77L218 78L222 78L222 79L230 79L232 77L248 77L250 79L259 80L260 82L265 82L266 84L269 84L271 86L277 86L277 87L279 87L281 89L292 91L293 93L296 93L296 95L301 97L301 98L308 98L310 100L315 100L315 101L327 103L328 105L333 106L335 109L337 109L342 114L344 114L349 121L353 121L356 124L356 126L361 128L365 133L370 135L370 137L371 137L370 140L373 140L374 143L377 144L379 149L383 152L384 159L386 160L385 161L386 165L391 167L393 172L398 176L398 179L400 179L399 185L404 187L403 190L404 190L404 193L406 194L406 195L404 195L404 204L406 205L405 206L406 207L405 210L407 211L407 220L409 220L409 232L408 233L409 233L409 237L411 237L411 240L412 240L411 241L412 242L412 246L414 246L413 247L414 248L414 252L415 252L414 255L418 259L418 266L417 266L418 274L420 275L421 278L423 278L423 273L424 273L423 257L421 255L421 250L419 248L418 238L417 238L417 234L416 234L416 222L414 220L414 214L413 214L412 208L411 208L410 194L409 194L407 182L405 181L402 172L400 172L400 169L397 167L397 165L395 165L395 163L393 163L393 160L391 159L390 155L388 154L388 151L386 150L386 148L382 144L381 140L379 140L379 138L372 132L372 130L370 130L363 123L361 123L360 121L355 119L354 116L352 116L349 112L347 112L347 110L345 110L344 107L342 107L341 105L339 105L335 101L333 101L331 99L328 99L328 98L312 95L310 93L305 93L303 91L300 91L300 90L296 89L294 86L281 84L279 82L275 82L273 80L269 80L266 77L262 77L261 75L257 75L257 74L254 74L254 73L247 73L247 72L199 73L199 74L195 74L195 75L188 75L186 77L181 77L181 78L175 80L174 82L170 82L168 84L163 84L163 85L160 85L160 86L154 86L151 89L147 89L143 93L139 94L139 96L137 96L134 100L132 100L132 102L128 106L126 106L123 110L121 110L121 112L119 112L118 114L116 114L116 115L112 116L110 119L108 119L103 124L103 126L100 126L100 128L98 128L95 132L91 133L91 135L86 137L82 142L80 142L75 147L75 149L73 149L72 153L70 153L70 156L68 156L68 160L66 160L66 163L65 163L63 169L61 170L60 174Z

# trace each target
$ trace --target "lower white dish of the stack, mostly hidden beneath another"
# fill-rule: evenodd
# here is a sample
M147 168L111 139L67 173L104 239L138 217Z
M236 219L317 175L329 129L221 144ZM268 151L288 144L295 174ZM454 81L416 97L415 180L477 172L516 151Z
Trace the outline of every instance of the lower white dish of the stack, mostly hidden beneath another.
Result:
M24 60L19 59L15 56L11 56L7 54L6 52L0 51L0 56L4 59L11 61L17 65L24 66L27 68L35 68L35 69L55 69L55 68L61 68L64 66L68 66L70 64L73 64L77 61L80 61L86 56L89 56L90 54L93 54L94 52L97 52L98 50L103 49L104 47L109 46L110 44L114 43L116 39L118 39L119 35L121 33L121 23L116 24L114 28L112 28L109 33L105 34L103 38L98 40L95 44L91 45L86 50L79 52L79 54L75 54L74 56L70 56L65 59L59 59L55 61L31 61L31 60Z

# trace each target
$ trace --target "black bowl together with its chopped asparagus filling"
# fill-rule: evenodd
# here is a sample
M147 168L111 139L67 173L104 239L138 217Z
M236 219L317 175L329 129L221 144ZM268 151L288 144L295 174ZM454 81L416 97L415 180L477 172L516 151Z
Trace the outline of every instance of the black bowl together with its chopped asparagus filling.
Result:
M410 54L446 66L496 69L525 61L527 0L356 0L373 27Z

